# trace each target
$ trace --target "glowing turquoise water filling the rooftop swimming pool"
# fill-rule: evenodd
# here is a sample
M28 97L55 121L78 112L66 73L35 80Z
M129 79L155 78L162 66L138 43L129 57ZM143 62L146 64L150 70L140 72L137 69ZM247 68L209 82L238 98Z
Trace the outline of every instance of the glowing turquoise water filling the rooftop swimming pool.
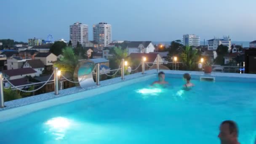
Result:
M149 88L154 80L0 123L0 144L218 144L223 120L254 144L255 83L192 80L182 91L181 78L167 76L165 89Z

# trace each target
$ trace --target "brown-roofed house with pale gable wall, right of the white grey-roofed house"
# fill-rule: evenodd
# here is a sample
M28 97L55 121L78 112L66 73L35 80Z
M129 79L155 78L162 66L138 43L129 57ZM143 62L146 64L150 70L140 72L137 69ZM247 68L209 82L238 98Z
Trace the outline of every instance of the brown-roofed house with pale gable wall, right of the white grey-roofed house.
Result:
M23 65L23 68L30 67L36 71L35 76L39 77L43 70L45 69L45 65L40 59L32 59L32 60L27 60L25 64Z

